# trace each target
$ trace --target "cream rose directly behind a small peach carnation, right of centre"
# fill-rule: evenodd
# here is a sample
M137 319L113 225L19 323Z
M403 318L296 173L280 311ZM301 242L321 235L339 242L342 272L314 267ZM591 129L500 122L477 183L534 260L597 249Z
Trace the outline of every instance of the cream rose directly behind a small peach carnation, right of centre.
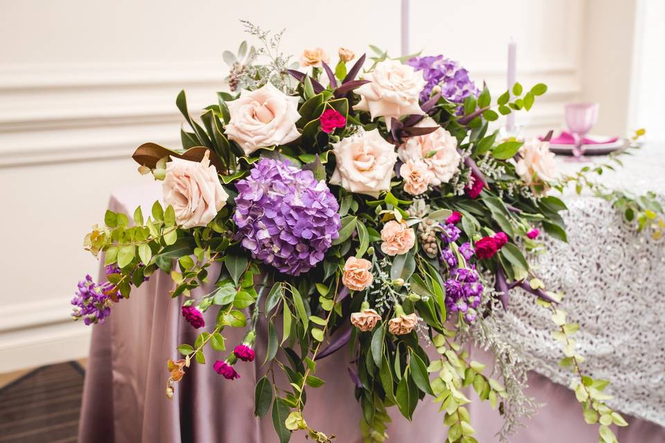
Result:
M429 117L416 125L417 127L434 127L438 124ZM403 162L423 159L434 177L430 184L439 186L447 183L459 169L461 156L457 152L457 139L442 127L424 136L407 138L407 141L398 149L398 156ZM408 192L408 191L407 191Z

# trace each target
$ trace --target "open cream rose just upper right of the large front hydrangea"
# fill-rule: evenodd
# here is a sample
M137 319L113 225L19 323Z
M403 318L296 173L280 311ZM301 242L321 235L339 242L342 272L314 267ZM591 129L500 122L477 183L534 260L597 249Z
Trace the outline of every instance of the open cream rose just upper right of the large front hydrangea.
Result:
M390 190L397 153L378 129L342 138L332 145L332 151L337 168L330 177L330 184L372 197Z

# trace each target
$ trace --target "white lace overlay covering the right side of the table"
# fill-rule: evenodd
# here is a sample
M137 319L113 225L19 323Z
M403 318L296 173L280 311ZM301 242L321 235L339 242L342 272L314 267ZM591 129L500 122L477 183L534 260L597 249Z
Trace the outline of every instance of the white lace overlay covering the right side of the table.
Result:
M662 191L665 170L662 159L656 163L660 177L650 188ZM639 170L649 170L644 166ZM634 172L627 168L607 183ZM565 201L569 243L548 239L547 253L531 257L535 271L548 289L565 293L562 309L580 325L575 338L586 359L582 370L610 381L606 392L614 398L607 404L665 426L665 242L637 233L603 199L566 195ZM564 355L550 335L550 314L534 296L513 289L508 334L533 356L536 372L567 386L574 376L558 365Z

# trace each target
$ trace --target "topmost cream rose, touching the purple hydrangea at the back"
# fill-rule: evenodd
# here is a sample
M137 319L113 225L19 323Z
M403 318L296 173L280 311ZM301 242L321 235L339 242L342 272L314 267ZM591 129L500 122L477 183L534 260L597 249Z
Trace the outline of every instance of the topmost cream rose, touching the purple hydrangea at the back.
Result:
M372 119L385 117L390 129L390 119L407 114L423 114L418 104L420 91L425 87L423 73L397 60L384 60L373 72L364 75L369 83L355 89L361 98L353 107L358 111L369 111Z

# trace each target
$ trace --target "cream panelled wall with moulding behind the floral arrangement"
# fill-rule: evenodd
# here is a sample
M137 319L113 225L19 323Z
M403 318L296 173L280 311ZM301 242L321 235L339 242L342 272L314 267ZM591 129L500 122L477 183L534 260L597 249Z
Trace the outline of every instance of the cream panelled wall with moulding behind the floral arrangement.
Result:
M513 35L518 80L550 86L517 121L544 131L583 93L585 4L411 0L411 46L459 59L499 93ZM90 329L68 318L76 282L96 273L82 237L114 188L149 180L129 159L136 146L179 145L179 89L190 109L215 100L222 51L246 38L238 19L287 28L294 55L365 44L397 55L399 10L399 0L0 0L0 372L87 354Z

